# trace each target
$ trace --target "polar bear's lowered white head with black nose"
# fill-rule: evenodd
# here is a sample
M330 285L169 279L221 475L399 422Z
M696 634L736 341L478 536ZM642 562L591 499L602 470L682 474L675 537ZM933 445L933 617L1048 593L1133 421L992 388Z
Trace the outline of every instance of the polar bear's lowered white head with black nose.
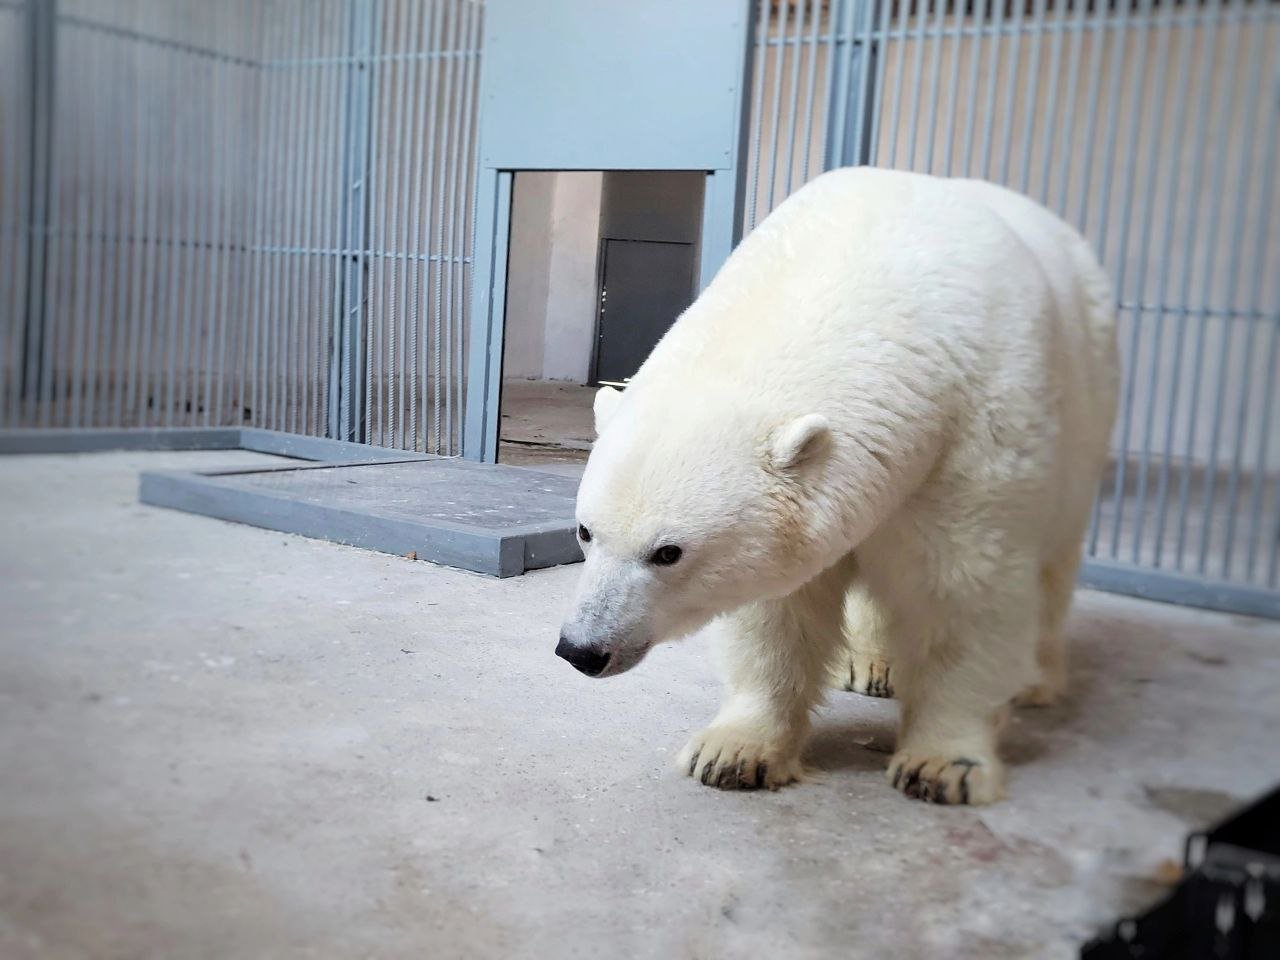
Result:
M595 424L577 495L586 563L556 648L581 672L622 673L838 557L823 416L780 419L705 389L681 399L604 388Z

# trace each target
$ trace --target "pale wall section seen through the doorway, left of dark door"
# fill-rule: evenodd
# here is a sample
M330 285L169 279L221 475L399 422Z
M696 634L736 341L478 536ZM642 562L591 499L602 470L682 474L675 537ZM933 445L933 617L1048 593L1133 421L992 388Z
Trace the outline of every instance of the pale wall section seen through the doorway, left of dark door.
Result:
M504 376L586 383L602 182L593 172L516 175Z

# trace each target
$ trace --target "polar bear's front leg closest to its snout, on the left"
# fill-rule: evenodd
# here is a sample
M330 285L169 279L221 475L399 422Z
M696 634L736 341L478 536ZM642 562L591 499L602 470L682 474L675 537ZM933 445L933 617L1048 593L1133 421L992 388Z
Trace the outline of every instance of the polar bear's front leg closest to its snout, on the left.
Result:
M680 751L677 764L690 777L726 790L777 790L800 780L809 714L841 640L849 577L847 563L837 563L790 596L727 618L727 696Z

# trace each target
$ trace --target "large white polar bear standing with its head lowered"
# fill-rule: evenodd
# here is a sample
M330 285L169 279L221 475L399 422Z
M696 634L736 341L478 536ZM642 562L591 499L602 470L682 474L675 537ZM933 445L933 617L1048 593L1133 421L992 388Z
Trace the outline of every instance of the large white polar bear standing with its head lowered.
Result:
M690 776L799 780L835 672L900 700L895 787L991 803L1009 704L1066 682L1117 379L1107 278L1057 216L977 180L827 173L596 396L556 652L613 676L723 617Z

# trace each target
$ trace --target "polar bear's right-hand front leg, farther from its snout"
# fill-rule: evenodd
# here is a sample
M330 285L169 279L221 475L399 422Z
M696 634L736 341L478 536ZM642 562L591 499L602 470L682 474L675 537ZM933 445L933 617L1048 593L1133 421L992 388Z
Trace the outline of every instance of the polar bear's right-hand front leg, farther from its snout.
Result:
M1004 795L996 751L1009 703L1036 676L1039 591L1006 568L1000 586L915 608L896 649L902 703L890 782L940 804L988 804ZM1025 582L1024 582L1025 581Z

